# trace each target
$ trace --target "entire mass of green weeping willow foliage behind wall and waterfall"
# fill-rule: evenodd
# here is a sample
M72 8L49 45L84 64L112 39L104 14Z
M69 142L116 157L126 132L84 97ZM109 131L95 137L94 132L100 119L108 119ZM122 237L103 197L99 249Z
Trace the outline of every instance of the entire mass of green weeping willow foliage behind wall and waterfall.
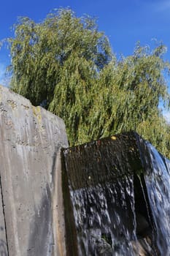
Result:
M170 157L169 124L158 108L169 107L162 44L137 44L117 60L96 20L69 9L41 23L20 18L8 42L12 90L61 116L71 146L134 129Z

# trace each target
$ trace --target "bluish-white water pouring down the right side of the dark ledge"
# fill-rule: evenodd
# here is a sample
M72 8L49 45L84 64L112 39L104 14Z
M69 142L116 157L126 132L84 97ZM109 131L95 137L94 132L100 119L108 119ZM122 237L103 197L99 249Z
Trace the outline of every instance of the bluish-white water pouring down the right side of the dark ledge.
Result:
M170 255L170 162L147 143L150 167L144 176L161 255Z

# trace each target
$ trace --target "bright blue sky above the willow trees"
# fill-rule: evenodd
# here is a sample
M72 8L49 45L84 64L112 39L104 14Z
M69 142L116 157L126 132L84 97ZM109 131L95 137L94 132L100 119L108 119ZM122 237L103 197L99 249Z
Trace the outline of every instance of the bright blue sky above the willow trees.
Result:
M0 40L13 35L12 24L18 16L43 20L54 8L71 7L78 16L88 14L98 18L98 30L104 31L112 50L119 56L133 53L135 44L154 45L162 41L168 48L170 61L170 0L5 0L1 1ZM9 52L0 51L0 83L9 64Z

